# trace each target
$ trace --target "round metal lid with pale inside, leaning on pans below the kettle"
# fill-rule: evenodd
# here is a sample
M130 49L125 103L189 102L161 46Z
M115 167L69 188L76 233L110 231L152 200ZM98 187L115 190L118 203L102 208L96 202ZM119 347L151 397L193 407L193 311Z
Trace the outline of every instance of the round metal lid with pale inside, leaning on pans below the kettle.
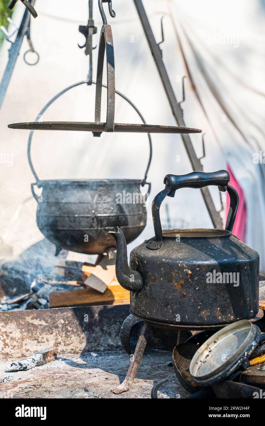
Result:
M227 379L258 346L259 328L241 320L217 331L203 343L191 360L190 373L197 385L211 386Z

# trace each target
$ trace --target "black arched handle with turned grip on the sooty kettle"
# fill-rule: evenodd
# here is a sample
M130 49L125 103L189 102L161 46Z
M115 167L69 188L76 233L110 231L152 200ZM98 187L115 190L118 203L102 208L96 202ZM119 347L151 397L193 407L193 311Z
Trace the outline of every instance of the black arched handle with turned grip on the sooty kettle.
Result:
M166 196L174 197L176 190L180 188L203 188L215 185L218 186L220 191L227 191L230 196L230 206L225 229L232 232L239 204L239 196L237 191L228 185L229 180L230 176L226 170L218 170L212 173L192 172L187 175L166 175L164 178L165 189L160 191L152 202L152 216L156 240L149 241L147 247L151 250L157 250L162 246L163 236L160 221L160 205Z

